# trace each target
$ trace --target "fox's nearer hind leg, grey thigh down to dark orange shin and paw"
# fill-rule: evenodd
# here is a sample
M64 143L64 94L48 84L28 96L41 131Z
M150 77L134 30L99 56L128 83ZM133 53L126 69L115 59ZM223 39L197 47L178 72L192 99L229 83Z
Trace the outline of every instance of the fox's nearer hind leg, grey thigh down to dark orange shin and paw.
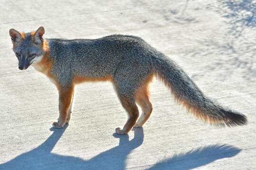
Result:
M116 87L116 92L120 102L128 113L128 120L123 129L117 128L118 134L127 134L135 125L139 113L136 105L136 91L149 75L152 74L152 68L147 58L136 56L128 56L119 64L113 75L113 83Z

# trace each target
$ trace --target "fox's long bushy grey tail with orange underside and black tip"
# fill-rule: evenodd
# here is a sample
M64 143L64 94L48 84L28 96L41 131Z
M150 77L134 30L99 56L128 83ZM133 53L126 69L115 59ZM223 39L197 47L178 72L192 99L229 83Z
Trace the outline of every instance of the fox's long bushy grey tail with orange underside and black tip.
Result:
M220 126L246 125L245 115L220 106L207 98L182 68L163 54L153 58L152 67L156 76L174 94L177 102L183 104L197 118Z

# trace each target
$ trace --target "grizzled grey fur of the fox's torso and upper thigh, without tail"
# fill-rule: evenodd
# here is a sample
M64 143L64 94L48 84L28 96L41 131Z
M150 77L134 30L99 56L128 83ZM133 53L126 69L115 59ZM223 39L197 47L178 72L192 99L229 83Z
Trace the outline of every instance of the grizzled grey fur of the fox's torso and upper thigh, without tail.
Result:
M61 85L74 76L110 75L119 94L133 100L134 92L151 72L151 58L143 51L146 44L134 36L111 35L96 40L46 39L55 60L52 73Z

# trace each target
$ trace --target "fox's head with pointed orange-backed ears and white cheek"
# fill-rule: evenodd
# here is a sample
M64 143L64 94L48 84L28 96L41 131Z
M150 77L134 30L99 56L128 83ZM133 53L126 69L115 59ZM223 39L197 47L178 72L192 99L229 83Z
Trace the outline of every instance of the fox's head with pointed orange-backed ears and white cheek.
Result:
M31 64L39 63L42 60L46 53L43 26L31 33L20 33L15 29L10 29L9 34L13 43L12 50L18 59L20 70L25 70Z

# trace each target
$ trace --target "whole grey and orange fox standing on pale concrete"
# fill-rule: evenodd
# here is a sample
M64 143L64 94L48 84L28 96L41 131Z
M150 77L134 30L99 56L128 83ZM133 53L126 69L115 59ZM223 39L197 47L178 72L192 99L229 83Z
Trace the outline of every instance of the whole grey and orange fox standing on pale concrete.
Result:
M128 112L127 134L141 127L152 112L148 84L156 76L197 118L220 126L247 124L245 115L222 107L206 97L174 61L144 40L130 35L110 35L99 39L44 39L44 27L31 33L9 30L18 68L32 65L44 73L59 91L59 118L53 127L62 128L71 118L74 86L85 81L110 81ZM137 104L142 108L139 117ZM139 117L139 119L138 119Z

